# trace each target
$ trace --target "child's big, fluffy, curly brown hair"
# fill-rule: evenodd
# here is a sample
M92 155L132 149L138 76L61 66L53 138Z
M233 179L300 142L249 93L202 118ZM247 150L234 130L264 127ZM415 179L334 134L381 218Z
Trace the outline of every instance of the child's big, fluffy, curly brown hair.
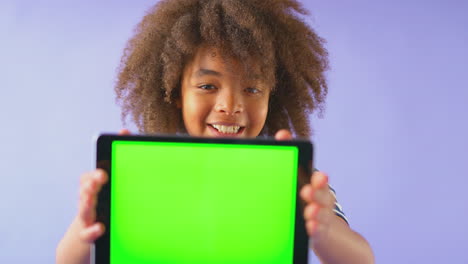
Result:
M272 86L263 136L286 128L309 137L309 116L328 88L324 40L295 0L162 0L144 16L124 50L115 87L122 119L143 133L184 133L175 101L186 63L200 45L243 62L255 58Z

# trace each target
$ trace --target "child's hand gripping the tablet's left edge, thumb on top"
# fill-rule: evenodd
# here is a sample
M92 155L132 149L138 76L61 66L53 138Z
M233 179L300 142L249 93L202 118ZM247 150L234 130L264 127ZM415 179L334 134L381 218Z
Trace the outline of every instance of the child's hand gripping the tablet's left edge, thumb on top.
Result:
M119 132L119 135L129 134L130 132L126 129ZM96 222L96 203L97 195L107 180L107 173L102 169L81 176L77 220L80 227L79 237L82 242L93 243L104 234L104 225Z

